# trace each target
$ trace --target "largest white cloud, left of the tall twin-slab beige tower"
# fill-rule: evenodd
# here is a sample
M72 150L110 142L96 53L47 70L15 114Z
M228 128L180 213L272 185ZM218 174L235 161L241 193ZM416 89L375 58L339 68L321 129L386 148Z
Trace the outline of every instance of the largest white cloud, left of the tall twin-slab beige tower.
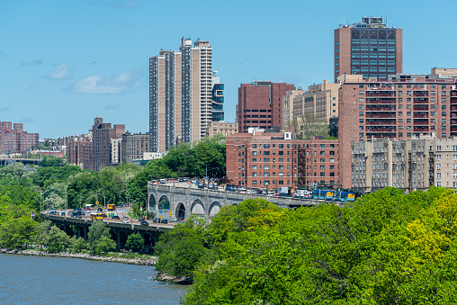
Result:
M76 94L126 94L140 85L138 76L130 69L119 76L89 76L68 86L66 90Z

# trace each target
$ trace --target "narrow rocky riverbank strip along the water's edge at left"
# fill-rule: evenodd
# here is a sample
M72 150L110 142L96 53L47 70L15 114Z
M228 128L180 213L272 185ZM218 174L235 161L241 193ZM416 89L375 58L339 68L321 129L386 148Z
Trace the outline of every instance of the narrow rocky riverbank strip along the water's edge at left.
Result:
M150 256L151 258L125 258L125 257L112 257L112 256L93 256L85 253L69 253L69 252L60 252L60 253L49 253L46 251L37 251L30 249L4 249L0 248L0 253L4 254L14 254L22 256L57 256L57 257L69 257L69 258L79 258L87 259L93 261L103 261L103 262L112 262L112 263L121 263L128 265L156 265L157 257Z

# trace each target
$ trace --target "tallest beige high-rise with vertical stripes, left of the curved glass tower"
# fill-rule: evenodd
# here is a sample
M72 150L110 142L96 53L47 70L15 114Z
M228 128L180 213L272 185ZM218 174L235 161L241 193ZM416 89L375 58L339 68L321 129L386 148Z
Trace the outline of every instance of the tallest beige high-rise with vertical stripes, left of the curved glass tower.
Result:
M211 123L212 47L208 40L182 40L179 51L149 58L150 151L207 134Z

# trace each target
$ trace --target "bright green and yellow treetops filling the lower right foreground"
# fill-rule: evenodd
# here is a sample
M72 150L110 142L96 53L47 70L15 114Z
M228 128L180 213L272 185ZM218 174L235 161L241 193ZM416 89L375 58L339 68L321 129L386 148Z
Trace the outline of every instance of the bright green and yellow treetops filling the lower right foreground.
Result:
M456 233L457 195L444 188L386 188L345 208L245 201L207 226L182 303L454 303Z

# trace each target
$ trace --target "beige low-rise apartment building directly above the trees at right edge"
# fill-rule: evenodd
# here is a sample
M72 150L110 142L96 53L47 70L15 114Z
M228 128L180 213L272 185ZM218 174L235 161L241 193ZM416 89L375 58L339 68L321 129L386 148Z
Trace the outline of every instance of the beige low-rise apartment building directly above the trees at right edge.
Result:
M430 186L457 187L457 138L351 141L352 188L376 191L391 186L405 192Z

